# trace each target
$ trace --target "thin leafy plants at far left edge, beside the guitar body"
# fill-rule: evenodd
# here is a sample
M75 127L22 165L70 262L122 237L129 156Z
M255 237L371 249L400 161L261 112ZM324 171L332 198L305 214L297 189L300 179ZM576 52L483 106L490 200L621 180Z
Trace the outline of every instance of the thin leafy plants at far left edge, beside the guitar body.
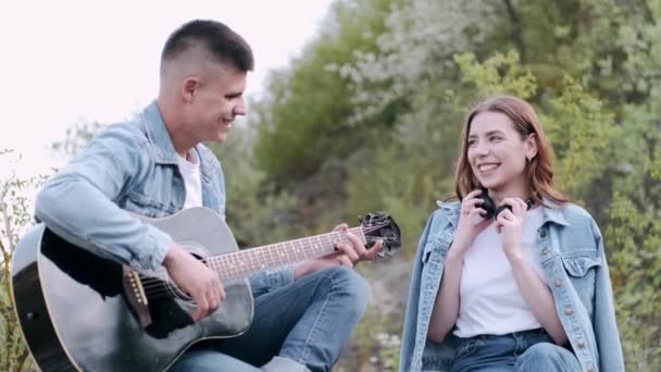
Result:
M11 150L0 150L0 160L12 157ZM11 160L16 163L16 160ZM20 158L17 159L20 162ZM43 177L24 179L10 174L0 178L0 371L27 371L34 363L23 339L11 294L11 258L18 238L30 224L28 193L42 183Z

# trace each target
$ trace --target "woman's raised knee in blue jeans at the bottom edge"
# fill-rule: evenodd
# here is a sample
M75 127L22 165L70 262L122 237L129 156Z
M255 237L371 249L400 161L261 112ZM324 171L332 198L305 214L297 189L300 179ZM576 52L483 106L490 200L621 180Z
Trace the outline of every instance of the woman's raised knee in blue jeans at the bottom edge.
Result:
M576 368L581 368L576 357L570 350L551 343L531 346L514 365L516 371L575 371Z

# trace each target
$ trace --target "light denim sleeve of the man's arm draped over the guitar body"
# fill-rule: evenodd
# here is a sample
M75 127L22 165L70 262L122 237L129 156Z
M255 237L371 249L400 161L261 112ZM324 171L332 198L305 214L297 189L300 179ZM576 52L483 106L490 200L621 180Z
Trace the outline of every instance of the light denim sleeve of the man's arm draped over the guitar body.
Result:
M139 174L138 152L129 134L105 131L43 185L35 216L70 244L97 256L138 271L158 269L172 238L114 202Z

